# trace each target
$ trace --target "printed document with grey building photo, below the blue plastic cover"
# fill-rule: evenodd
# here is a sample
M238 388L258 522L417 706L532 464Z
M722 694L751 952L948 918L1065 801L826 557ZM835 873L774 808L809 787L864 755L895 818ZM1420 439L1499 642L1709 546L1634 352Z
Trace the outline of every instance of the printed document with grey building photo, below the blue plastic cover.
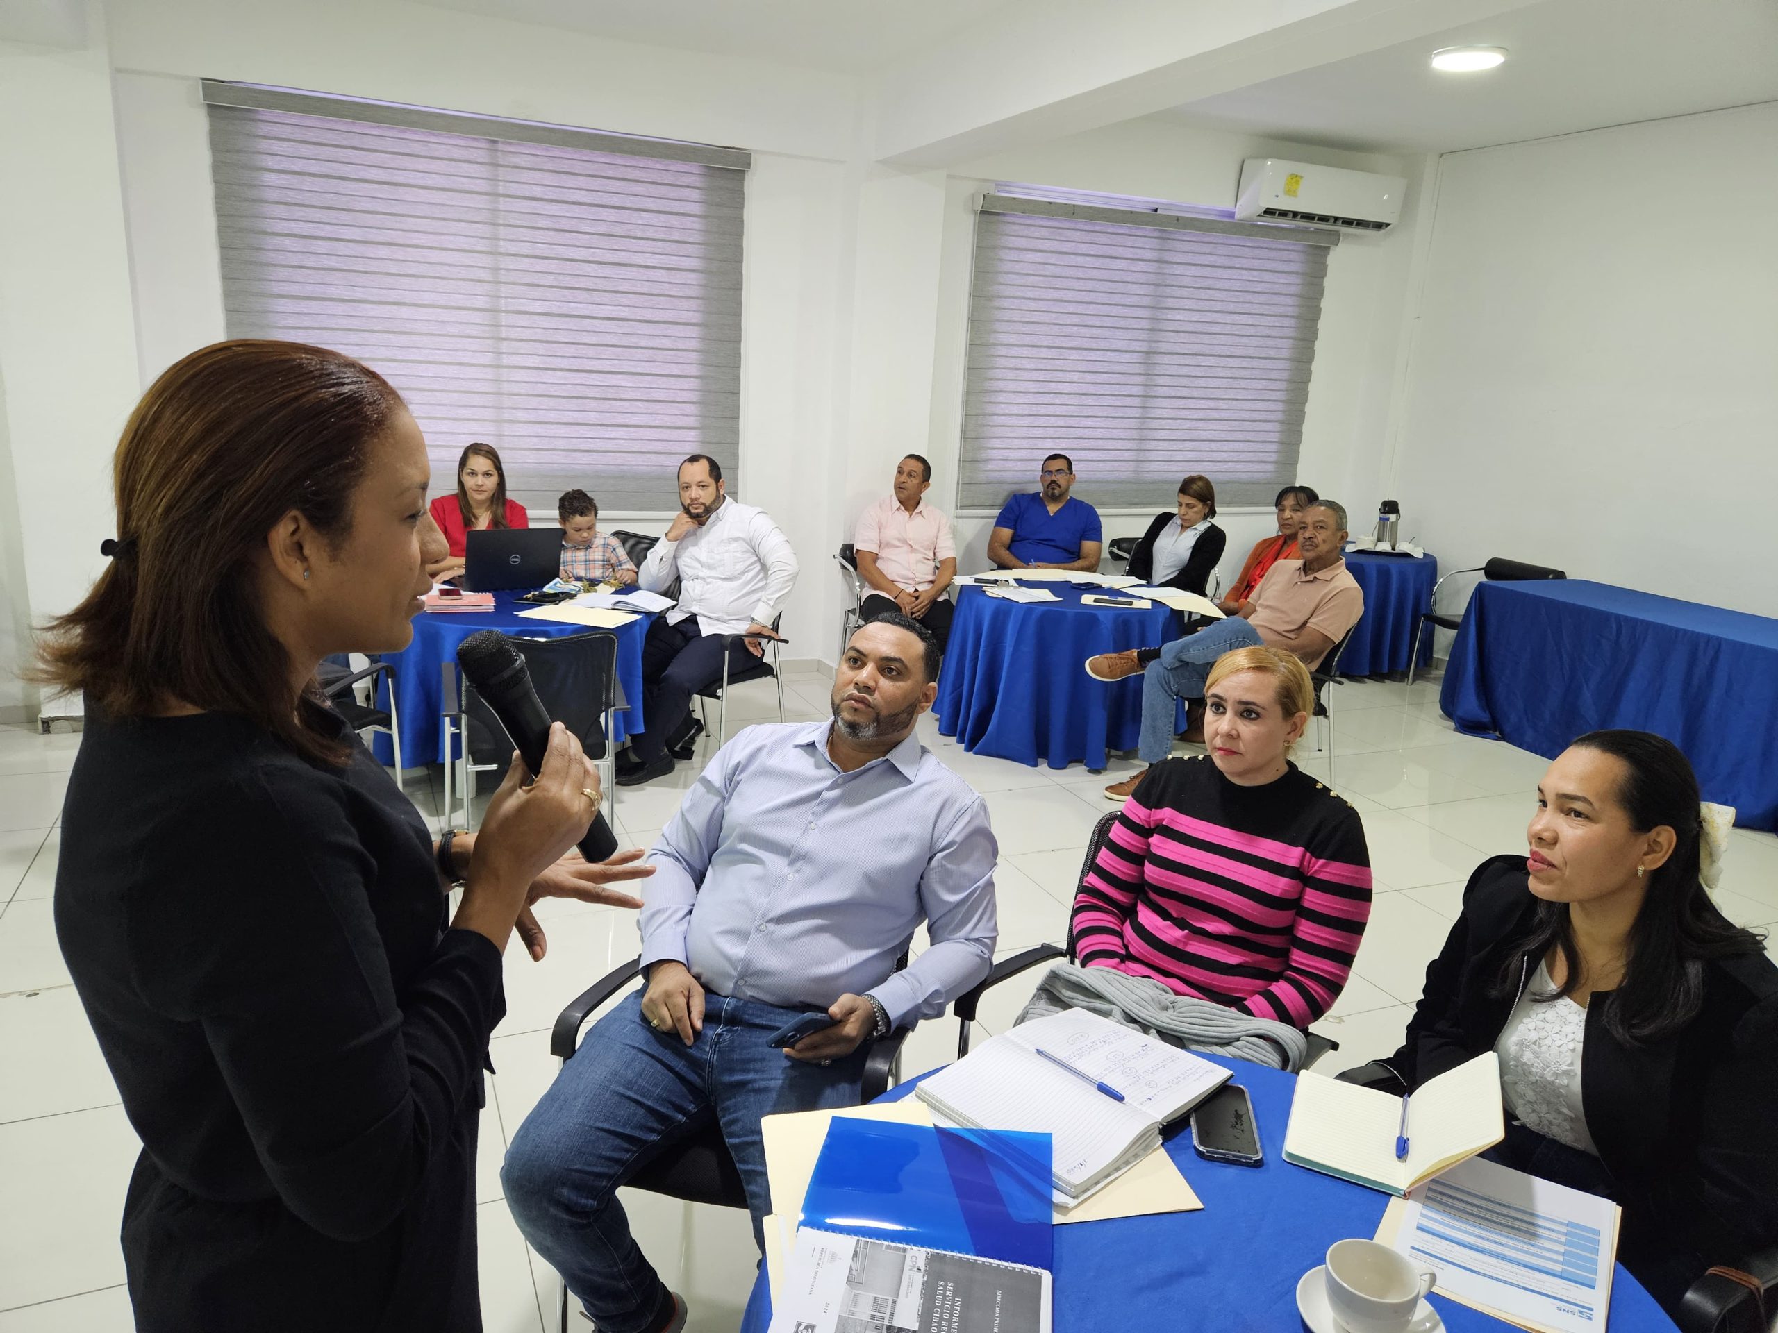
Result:
M797 1232L770 1333L1049 1333L1051 1278L948 1249Z

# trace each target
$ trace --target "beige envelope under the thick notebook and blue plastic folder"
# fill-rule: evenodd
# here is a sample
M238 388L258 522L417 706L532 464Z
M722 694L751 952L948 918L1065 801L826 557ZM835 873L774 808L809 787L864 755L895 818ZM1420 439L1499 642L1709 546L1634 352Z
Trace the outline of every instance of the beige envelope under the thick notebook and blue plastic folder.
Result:
M916 1097L900 1102L871 1102L837 1111L791 1111L766 1116L759 1121L765 1141L766 1180L772 1185L772 1217L765 1219L766 1280L773 1297L777 1281L789 1257L789 1242L802 1216L802 1196L809 1193L814 1162L827 1141L827 1125L834 1116L859 1120L887 1120L901 1125L930 1125L932 1113ZM1156 1148L1109 1185L1069 1210L1056 1209L1056 1225L1083 1221L1109 1221L1113 1217L1145 1217L1156 1212L1195 1212L1204 1203L1166 1155Z

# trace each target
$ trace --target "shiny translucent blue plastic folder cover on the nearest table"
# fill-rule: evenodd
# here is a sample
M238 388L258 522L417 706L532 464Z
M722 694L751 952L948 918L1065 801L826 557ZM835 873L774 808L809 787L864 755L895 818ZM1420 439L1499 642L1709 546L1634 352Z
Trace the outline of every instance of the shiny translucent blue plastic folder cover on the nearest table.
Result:
M800 1225L1053 1267L1047 1134L836 1116Z

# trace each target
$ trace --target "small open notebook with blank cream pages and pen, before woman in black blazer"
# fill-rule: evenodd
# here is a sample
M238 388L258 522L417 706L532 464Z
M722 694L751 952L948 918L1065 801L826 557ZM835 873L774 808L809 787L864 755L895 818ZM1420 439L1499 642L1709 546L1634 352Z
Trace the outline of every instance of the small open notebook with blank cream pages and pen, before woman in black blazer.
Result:
M1408 1102L1408 1155L1396 1159L1401 1097L1312 1070L1296 1079L1284 1161L1406 1194L1506 1137L1501 1059L1485 1050L1428 1079Z

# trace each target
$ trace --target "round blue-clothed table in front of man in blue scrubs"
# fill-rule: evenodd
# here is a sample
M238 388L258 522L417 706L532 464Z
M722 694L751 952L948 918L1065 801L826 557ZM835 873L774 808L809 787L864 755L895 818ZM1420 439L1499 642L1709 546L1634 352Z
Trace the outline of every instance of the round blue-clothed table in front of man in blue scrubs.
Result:
M1179 638L1179 611L1086 606L1088 594L1031 583L1060 601L1013 603L962 587L951 638L939 674L939 734L955 736L969 754L1021 764L1067 768L1085 761L1104 768L1108 750L1134 750L1141 734L1141 677L1108 684L1085 672L1099 652L1159 647Z

